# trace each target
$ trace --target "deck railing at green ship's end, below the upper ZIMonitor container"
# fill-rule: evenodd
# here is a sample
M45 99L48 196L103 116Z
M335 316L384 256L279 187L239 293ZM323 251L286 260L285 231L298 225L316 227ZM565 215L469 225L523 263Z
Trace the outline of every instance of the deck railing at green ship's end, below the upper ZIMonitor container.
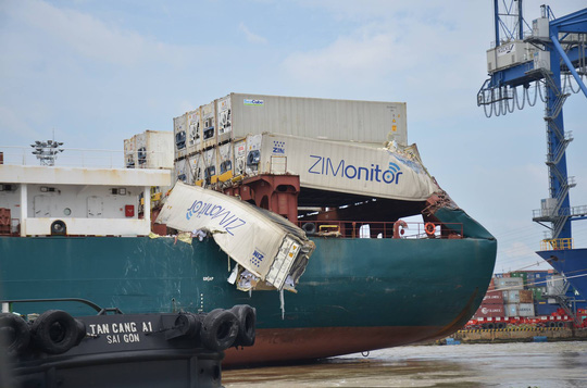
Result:
M298 221L308 236L344 238L462 238L460 223L370 222L370 221ZM397 229L397 230L396 230ZM395 233L396 231L396 233Z

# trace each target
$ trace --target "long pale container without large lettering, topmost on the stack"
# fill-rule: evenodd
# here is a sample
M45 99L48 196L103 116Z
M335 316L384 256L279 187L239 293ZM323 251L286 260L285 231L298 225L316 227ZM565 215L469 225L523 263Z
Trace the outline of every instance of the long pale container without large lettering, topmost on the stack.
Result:
M218 141L265 132L308 138L408 145L405 102L230 93L217 100ZM226 111L227 110L227 111Z

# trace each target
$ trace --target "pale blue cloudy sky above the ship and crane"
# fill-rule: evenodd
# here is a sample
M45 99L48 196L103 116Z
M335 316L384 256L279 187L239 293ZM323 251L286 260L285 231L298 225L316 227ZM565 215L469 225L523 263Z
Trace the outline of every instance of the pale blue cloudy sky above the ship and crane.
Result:
M524 1L529 24L542 3ZM124 139L229 92L403 101L428 171L497 237L496 272L548 270L532 221L549 196L544 104L477 107L492 40L490 0L0 0L0 148L54 134L122 155ZM564 104L572 205L587 204L586 111L582 93ZM587 247L587 221L573 230Z

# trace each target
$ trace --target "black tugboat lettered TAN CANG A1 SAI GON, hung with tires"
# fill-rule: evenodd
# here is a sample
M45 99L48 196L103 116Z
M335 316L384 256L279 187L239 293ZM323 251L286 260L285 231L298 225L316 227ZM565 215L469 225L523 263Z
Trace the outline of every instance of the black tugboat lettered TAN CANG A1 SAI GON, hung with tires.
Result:
M249 305L209 313L123 314L80 299L98 311L76 316L48 310L25 320L0 314L0 340L12 387L221 387L224 350L255 339Z

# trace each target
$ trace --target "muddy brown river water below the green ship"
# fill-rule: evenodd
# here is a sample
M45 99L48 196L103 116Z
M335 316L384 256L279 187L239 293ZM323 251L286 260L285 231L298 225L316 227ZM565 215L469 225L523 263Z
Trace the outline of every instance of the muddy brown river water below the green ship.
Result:
M223 371L236 387L587 387L587 341L415 346Z

